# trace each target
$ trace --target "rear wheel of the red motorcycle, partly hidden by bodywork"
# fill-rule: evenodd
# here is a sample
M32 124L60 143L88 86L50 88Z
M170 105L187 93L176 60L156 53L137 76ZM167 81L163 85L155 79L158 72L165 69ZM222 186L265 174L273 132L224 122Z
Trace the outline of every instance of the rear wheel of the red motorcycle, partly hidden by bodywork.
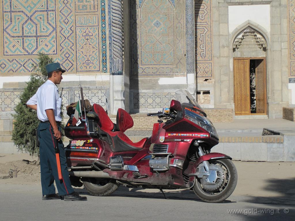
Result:
M118 189L115 179L84 178L83 185L87 192L94 196L106 196Z

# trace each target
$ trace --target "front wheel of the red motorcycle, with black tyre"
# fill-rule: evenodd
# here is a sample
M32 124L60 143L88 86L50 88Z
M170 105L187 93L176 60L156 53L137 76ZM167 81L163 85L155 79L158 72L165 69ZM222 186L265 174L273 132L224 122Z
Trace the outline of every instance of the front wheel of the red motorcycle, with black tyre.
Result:
M210 178L216 177L212 183L206 178L196 178L193 190L199 199L205 202L217 203L229 197L237 185L237 169L229 159L209 161L210 168L215 169Z

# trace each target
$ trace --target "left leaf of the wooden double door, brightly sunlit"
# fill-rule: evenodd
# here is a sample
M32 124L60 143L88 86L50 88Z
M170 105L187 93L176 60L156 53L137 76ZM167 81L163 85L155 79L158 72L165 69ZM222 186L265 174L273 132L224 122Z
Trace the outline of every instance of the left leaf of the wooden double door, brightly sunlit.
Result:
M235 113L250 114L250 60L234 60Z

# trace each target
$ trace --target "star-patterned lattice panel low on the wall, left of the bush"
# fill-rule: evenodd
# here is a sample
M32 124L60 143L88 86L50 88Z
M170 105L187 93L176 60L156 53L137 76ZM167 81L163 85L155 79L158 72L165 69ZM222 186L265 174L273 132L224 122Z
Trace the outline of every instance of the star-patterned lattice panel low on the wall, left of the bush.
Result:
M21 91L0 92L0 111L13 111L19 103Z

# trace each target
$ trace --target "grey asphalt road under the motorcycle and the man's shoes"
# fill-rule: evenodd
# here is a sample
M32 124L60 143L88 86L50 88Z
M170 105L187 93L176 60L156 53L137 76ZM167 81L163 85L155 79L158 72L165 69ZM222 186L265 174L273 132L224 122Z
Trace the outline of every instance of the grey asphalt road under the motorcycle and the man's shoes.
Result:
M231 196L225 202L200 201L189 190L167 192L164 199L158 190L129 189L120 186L107 197L89 196L76 189L88 201L66 202L41 200L39 184L1 184L0 220L294 220L291 202L259 200L255 197ZM147 192L146 192L147 191ZM289 205L288 205L289 204ZM231 214L240 210L241 214Z

